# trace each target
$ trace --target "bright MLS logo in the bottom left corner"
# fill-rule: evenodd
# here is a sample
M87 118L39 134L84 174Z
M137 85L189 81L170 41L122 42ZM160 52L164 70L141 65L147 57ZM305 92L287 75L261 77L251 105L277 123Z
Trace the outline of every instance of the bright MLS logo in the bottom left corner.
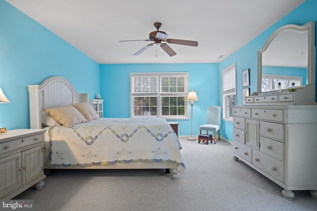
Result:
M34 200L0 200L1 211L35 211Z

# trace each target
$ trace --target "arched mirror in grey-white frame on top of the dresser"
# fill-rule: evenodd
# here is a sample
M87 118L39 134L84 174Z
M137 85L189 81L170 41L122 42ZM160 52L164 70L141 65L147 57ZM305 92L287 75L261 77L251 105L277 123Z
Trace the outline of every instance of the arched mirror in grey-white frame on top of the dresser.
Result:
M258 51L258 94L315 84L315 22L277 29Z

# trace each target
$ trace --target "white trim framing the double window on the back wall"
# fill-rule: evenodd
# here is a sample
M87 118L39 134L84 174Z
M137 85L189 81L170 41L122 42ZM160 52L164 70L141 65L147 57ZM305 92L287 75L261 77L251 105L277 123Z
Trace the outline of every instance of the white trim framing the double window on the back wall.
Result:
M132 93L132 77L153 77L157 76L158 77L158 110L157 116L134 116L134 96L135 94ZM162 116L162 102L161 102L161 97L163 96L179 96L180 94L162 94L161 93L161 77L168 76L168 77L173 77L173 76L184 76L186 77L186 84L185 84L185 90L184 90L184 97L185 97L185 115L184 116ZM166 120L188 120L189 119L189 106L188 102L186 101L186 97L189 91L189 73L188 72L155 72L155 73L130 73L130 118L162 118ZM143 94L144 96L150 96L151 93ZM153 96L153 95L151 95Z

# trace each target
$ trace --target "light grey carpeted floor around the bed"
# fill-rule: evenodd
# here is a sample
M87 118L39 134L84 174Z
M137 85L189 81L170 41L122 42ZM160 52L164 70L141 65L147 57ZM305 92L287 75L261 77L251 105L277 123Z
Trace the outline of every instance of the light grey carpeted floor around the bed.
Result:
M283 188L232 159L232 145L180 137L185 173L178 181L164 169L57 170L42 190L14 199L35 200L36 211L317 211L309 191Z

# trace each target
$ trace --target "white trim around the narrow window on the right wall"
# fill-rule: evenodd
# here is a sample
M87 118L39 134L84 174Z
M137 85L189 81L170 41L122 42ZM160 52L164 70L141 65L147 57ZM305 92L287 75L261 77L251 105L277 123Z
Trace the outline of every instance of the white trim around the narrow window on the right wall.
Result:
M224 83L223 83L223 75L226 72L229 71L233 71L234 73L234 84L232 84L232 86L234 85L234 88L231 88L229 90L223 90L224 87ZM221 70L221 93L222 93L222 120L223 121L227 121L227 122L233 122L233 118L232 117L228 117L227 116L227 96L228 95L235 95L235 105L237 105L237 82L236 82L236 63L231 64L230 66L226 67L225 69Z

